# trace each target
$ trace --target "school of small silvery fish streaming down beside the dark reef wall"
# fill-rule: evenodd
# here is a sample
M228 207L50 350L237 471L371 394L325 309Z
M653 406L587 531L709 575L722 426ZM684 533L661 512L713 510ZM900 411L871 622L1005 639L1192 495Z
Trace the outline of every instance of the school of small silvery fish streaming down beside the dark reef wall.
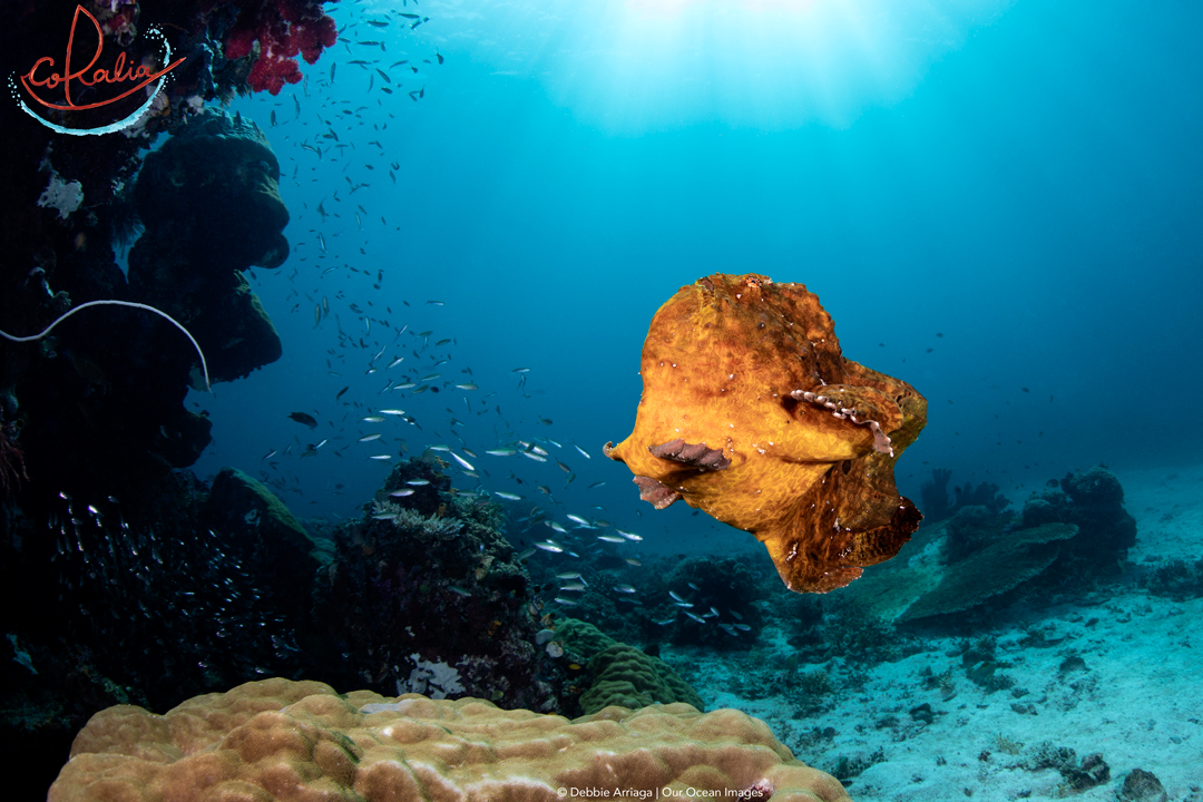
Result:
M328 72L310 73L291 88L291 96L269 101L274 103L269 136L284 165L282 192L292 185L303 186L307 196L313 185L322 192L316 203L301 203L300 209L290 204L294 226L304 233L296 238L284 268L250 278L261 283L262 289L256 287L261 295L283 289L286 296L275 304L300 315L306 328L313 309L313 337L325 339L325 354L313 357L310 384L314 394L330 400L298 404L308 406L306 411L282 412L302 424L284 424L292 432L320 429L326 436L307 444L295 434L292 442L271 447L261 458L260 479L282 494L360 498L371 489L331 482L331 471L322 471L325 481L315 493L312 480L303 482L298 475L298 461L315 458L307 467L331 459L383 463L373 469L378 487L396 461L437 459L440 471L452 480L452 493L490 497L505 507L508 536L515 548L523 549L520 560L550 559L559 565L609 554L640 566L644 537L611 523L603 505L580 504L581 498L597 498L592 491L617 475L609 461L594 461L571 438L555 439L556 421L539 414L544 410L531 409L538 403L535 396L546 392L533 387L543 379L539 367L488 366L488 370L474 372L457 357L461 338L450 331L456 321L455 299L408 297L396 254L373 250L373 232L392 237L403 231L402 213L393 212L398 208L393 202L383 204L384 214L380 208L371 209L372 197L385 192L391 198L405 189L405 159L385 141L403 127L404 115L421 112L421 105L404 97L425 100L427 85L438 79L437 67L446 61L422 38L433 29L432 18L410 13L408 7L377 8L371 18L340 22ZM348 95L340 96L344 89ZM319 367L322 361L325 376ZM328 396L321 385L330 386ZM503 405L522 411L510 417ZM490 430L491 435L481 435ZM568 510L557 494L569 491L579 471L582 480L568 494L580 507ZM389 495L401 500L428 483L409 480ZM642 511L632 505L622 515L641 516ZM557 577L555 604L562 607L577 605L574 594L589 589L580 572ZM614 583L599 590L641 604L632 584ZM748 630L737 620L719 622L718 611L692 610L675 593L671 605L677 616L715 622L728 634ZM658 623L671 623L677 616Z

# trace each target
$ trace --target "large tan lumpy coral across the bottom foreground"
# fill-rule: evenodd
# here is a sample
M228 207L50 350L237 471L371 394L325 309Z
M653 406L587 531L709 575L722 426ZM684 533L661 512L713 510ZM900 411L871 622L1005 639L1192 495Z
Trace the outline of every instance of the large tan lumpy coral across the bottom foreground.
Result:
M610 707L570 721L475 699L340 696L322 683L266 679L166 715L101 711L76 737L48 802L552 802L583 789L653 798L664 788L848 800L834 777L794 760L739 711Z

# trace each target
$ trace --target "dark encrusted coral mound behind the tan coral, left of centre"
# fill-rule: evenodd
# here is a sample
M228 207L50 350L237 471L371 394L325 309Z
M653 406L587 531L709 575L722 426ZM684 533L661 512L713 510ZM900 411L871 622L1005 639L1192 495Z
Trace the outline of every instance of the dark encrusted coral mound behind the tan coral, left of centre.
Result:
M348 682L405 693L438 677L448 695L555 709L553 689L538 678L534 593L500 533L500 509L438 493L450 488L442 468L435 458L399 462L385 488L416 492L381 492L334 531L333 562L318 577L318 632L342 655Z

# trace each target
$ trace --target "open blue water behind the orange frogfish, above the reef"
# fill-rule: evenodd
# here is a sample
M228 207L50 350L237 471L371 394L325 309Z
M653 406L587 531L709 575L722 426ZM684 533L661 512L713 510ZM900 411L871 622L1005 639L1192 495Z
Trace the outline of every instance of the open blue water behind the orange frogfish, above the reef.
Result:
M231 109L282 161L292 256L254 286L284 357L191 396L215 423L200 475L238 465L337 519L386 475L369 456L467 446L485 488L645 548L754 545L653 515L600 455L630 432L652 314L715 272L806 284L849 358L928 397L897 470L912 498L932 468L1021 500L1100 462L1196 459L1197 7L420 8L410 30L368 23L393 4L332 7L342 41L304 84ZM443 392L381 393L433 373ZM380 408L417 427L361 422ZM484 455L515 438L563 447Z

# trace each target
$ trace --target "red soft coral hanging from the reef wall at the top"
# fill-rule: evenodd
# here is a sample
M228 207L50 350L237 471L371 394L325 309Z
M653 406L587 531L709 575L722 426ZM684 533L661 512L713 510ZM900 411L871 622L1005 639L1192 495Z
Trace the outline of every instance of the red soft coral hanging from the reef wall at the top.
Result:
M247 76L253 91L278 95L286 83L301 81L296 57L313 64L322 49L338 41L334 20L322 10L324 0L251 0L243 5L226 35L225 57L250 55L259 42L259 55Z

